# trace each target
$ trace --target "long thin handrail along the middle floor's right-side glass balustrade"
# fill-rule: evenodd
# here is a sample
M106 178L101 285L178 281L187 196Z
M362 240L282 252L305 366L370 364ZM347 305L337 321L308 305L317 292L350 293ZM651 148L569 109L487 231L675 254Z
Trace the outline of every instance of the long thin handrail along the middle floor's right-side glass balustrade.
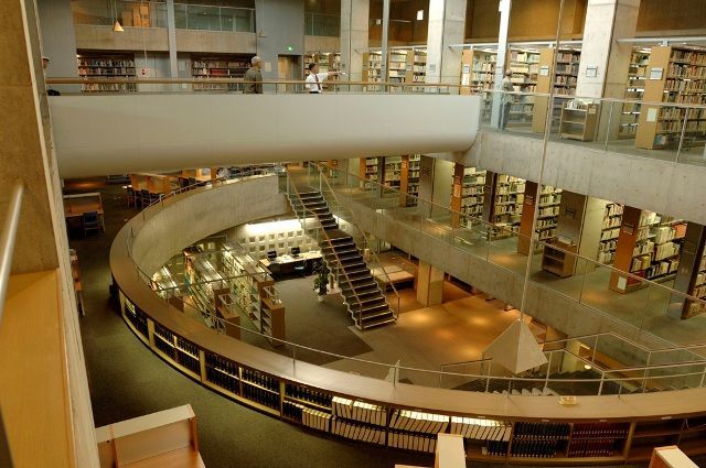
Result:
M338 170L336 167L330 167L330 168L331 168L331 170L334 170L334 171L336 171L336 172L340 172L340 170ZM351 177L356 178L356 179L359 179L359 181L364 181L365 183L368 183L368 184L376 185L376 186L378 186L379 188L384 188L384 189L385 189L385 191L387 191L387 192L393 192L393 193L397 193L398 195L403 195L403 192L402 192L402 191L399 191L398 188L395 188L395 187L388 187L388 186L386 186L386 185L381 184L381 183L379 183L379 182L377 182L377 181L371 181L371 179L368 179L368 178L364 178L364 177L361 177L361 176L359 176L359 175L351 174L351 173L346 173L346 177L347 177L347 176L351 176ZM485 221L485 220L483 220L483 219L481 219L481 218L478 218L478 217L475 217L475 216L473 216L473 215L468 215L468 214L464 214L464 213L461 213L461 211L458 211L458 210L451 209L450 207L447 207L447 206L440 205L440 204L438 204L438 203L430 202L430 200L427 200L427 199L425 199L425 198L420 198L418 195L411 195L411 194L404 194L404 195L405 195L405 196L407 196L407 197L410 197L410 198L413 198L413 199L416 199L416 200L417 200L417 203L421 202L421 203L427 204L427 205L429 205L429 206L436 206L436 207L438 207L438 208L440 208L440 209L442 209L442 210L445 210L445 211L448 211L448 213L449 213L449 214L451 214L451 215L459 216L459 217L462 217L462 218L472 219L472 220L473 220L473 222L478 222L478 224L480 224L480 225L483 225L483 226L485 226L486 228L492 228L492 229L500 229L500 228L501 228L501 227L496 227L496 226L494 226L492 222L488 222L488 221ZM450 226L449 226L449 227L450 227ZM459 230L461 230L461 229L467 229L467 230L470 230L470 231L472 231L472 230L473 230L472 228L468 228L468 227L466 227L466 228L464 228L464 227L458 227L458 228L451 228L451 229L452 229L452 230L454 230L454 229L459 229ZM526 236L526 235L523 235L523 233L521 233L521 232L515 232L515 231L512 231L512 230L511 230L511 232L512 232L512 235L513 235L513 236L515 236L515 237L517 237L517 238L525 238L525 239L530 239L530 238L531 238L531 236ZM426 233L426 232L424 232L424 231L422 231L422 233ZM431 236L431 235L427 235L427 236ZM558 246L549 244L549 243L547 243L547 242L545 242L545 241L542 241L542 240L536 240L536 241L535 241L535 243L536 243L537 246L545 246L545 247L546 247L546 246L549 246L553 250L557 250L557 251L563 252L563 253L565 253L565 254L567 254L567 255L574 257L574 258L576 258L577 260L578 260L578 259L584 260L585 262L591 263L591 264L593 264L593 265L595 265L595 266L597 266L597 268L611 270L611 271L612 271L613 273L616 273L616 274L619 274L619 275L621 275L621 276L630 277L630 279L635 280L635 281L638 281L638 282L640 282L640 283L645 283L645 284L648 284L650 287L652 287L652 286L660 287L660 289L662 289L662 290L664 290L664 291L667 291L667 292L668 292L668 293L671 293L671 294L674 294L674 295L677 295L677 296L682 296L683 298L688 300L688 301L693 301L693 302L697 302L697 303L703 303L703 304L706 306L706 301L704 301L704 300L700 300L700 298L698 298L698 297L696 297L696 296L692 296L692 295L689 295L689 294L683 293L683 292L681 292L681 291L673 290L673 289L671 289L671 287L667 287L667 286L665 286L665 285L663 285L663 284L661 284L661 283L654 282L654 281L652 281L652 280L648 280L648 279L645 279L645 277L638 276L638 275L632 274L632 273L630 273L630 272L627 272L627 271L623 271L623 270L617 269L617 268L614 268L614 266L612 266L612 265L607 265L607 264L600 263L600 262L598 262L598 261L596 261L596 260L593 260L593 259L589 259L588 257L584 257L584 255L581 255L581 254L579 254L579 253L576 253L576 252L569 252L568 250L565 250L565 249L563 249L563 248L560 248L560 247L558 247Z

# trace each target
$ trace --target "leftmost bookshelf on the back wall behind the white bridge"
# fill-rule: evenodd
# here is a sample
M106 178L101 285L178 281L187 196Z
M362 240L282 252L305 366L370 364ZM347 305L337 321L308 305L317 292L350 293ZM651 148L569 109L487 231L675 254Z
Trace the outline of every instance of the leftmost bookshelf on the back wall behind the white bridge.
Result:
M137 77L133 54L90 54L79 52L76 55L78 76L81 78L131 78ZM137 91L135 83L81 85L81 92L131 92Z

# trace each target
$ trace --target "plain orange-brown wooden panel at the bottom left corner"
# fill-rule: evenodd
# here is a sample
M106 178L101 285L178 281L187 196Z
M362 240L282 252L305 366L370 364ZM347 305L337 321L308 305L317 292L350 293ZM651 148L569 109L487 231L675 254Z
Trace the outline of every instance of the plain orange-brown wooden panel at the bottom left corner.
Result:
M74 466L62 323L56 270L10 277L0 401L15 467Z

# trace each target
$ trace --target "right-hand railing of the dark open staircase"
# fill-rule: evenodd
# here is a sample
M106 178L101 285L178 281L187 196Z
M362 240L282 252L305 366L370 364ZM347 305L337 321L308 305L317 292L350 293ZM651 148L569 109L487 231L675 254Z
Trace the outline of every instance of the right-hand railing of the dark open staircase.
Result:
M395 317L395 319L397 319L399 317L399 304L400 304L399 293L397 292L397 289L395 287L395 284L393 283L392 279L387 274L387 271L385 270L385 265L383 264L383 262L379 261L379 258L375 252L375 248L370 242L367 236L365 235L365 231L363 231L363 229L361 229L354 222L353 214L350 210L346 210L345 213L347 215L343 217L344 210L342 208L342 205L339 203L339 199L335 195L335 191L333 189L333 187L331 186L331 183L329 182L329 177L325 175L325 166L320 165L318 163L309 163L309 166L310 167L313 166L315 168L315 172L318 173L319 189L321 192L321 196L323 196L323 198L330 204L330 207L331 205L335 207L331 210L332 214L334 215L338 214L338 218L345 220L351 226L352 230L354 231L353 233L351 233L351 237L353 237L354 240L356 238L362 240L363 244L360 247L363 249L363 252L364 252L363 258L365 259L365 255L370 254L370 258L373 259L372 262L366 260L365 263L368 266L370 266L370 263L373 263L373 265L375 265L375 268L371 269L371 274L373 275L373 279L379 286L383 295L385 296L387 305L389 305L389 295L392 295L395 298L397 307L396 308L391 307L391 309L393 311L393 316ZM343 228L341 229L343 230ZM391 291L391 294L387 293L388 291Z

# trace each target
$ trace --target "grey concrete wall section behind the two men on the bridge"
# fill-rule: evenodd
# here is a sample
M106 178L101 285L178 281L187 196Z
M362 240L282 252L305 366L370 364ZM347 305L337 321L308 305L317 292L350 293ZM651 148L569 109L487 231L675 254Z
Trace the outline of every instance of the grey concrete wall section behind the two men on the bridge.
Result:
M304 51L303 0L256 2L257 54L263 57L263 78L277 78L279 55L302 55Z

